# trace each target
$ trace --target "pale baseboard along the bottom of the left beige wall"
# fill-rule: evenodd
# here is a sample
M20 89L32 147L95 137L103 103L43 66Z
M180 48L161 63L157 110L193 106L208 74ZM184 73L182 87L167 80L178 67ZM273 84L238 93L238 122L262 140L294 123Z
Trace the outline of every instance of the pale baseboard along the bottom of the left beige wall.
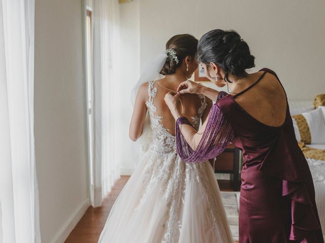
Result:
M86 210L90 206L89 198L87 197L83 203L81 203L77 209L72 213L71 217L63 224L61 229L57 232L54 238L51 240L51 243L63 243L77 225L79 220L85 214Z

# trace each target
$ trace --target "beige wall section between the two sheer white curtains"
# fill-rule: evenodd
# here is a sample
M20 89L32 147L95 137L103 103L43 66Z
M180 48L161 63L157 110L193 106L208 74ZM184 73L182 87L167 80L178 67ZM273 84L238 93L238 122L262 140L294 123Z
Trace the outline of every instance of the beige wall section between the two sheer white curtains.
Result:
M88 206L80 0L36 0L35 142L42 242L63 242Z

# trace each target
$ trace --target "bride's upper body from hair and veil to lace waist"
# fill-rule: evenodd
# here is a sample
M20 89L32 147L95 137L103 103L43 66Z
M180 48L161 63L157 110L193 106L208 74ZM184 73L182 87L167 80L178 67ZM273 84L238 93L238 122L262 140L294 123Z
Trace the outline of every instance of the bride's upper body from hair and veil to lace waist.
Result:
M139 86L131 119L129 137L132 140L136 141L142 135L143 125L147 125L145 117L148 110L152 128L151 137L156 149L175 152L175 119L164 98L168 92L176 91L179 84L190 78L198 68L197 50L198 39L190 34L177 34L166 43L166 55L158 55L149 63L144 75L139 79L144 82ZM148 79L156 77L159 73L165 77L158 80ZM204 111L209 110L212 101L207 99L207 104L204 96L196 94L181 95L180 98L183 116L198 129L201 118L204 120L207 116L207 112Z

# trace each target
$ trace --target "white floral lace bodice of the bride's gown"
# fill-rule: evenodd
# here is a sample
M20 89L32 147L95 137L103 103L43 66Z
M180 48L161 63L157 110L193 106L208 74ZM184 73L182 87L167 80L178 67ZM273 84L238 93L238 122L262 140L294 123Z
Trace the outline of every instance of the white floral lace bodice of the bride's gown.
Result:
M146 106L148 109L149 117L150 117L150 126L152 130L152 141L150 144L150 151L157 153L177 153L176 149L176 140L175 136L170 134L170 130L164 128L163 124L161 124L161 120L163 116L157 115L157 108L153 104L153 99L157 95L157 88L154 87L155 81L150 81L148 85L148 95L149 100L146 102ZM201 117L207 107L206 98L204 95L199 95L201 99L201 106L198 110L198 114L196 116L191 117L191 124L197 130L200 127Z

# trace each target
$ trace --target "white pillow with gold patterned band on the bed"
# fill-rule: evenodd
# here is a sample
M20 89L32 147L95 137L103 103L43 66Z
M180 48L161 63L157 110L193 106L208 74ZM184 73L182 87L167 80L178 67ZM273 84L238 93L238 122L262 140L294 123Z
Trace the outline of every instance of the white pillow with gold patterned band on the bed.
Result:
M325 117L323 109L319 107L315 110L292 116L298 142L325 144Z

